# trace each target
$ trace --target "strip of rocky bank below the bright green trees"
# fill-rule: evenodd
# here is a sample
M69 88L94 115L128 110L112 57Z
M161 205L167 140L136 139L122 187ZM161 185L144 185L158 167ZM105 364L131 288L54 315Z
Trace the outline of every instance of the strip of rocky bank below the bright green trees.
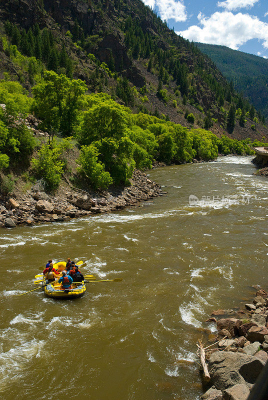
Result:
M164 193L157 183L137 169L134 170L130 183L129 186L113 188L101 194L67 186L64 194L62 192L50 196L35 185L25 194L1 196L0 227L68 221L71 218L112 212Z

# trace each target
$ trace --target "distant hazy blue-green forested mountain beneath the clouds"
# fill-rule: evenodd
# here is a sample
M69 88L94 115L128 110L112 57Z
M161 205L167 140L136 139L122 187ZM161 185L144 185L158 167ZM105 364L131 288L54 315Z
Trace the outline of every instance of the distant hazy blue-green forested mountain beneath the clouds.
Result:
M268 60L225 46L195 43L207 54L234 88L268 116ZM246 71L246 73L245 73Z

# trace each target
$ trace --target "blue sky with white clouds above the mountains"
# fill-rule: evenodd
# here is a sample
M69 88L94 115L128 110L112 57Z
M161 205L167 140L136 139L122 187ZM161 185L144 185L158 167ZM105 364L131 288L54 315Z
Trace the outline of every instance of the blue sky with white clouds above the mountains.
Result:
M143 0L170 28L194 41L268 58L267 0Z

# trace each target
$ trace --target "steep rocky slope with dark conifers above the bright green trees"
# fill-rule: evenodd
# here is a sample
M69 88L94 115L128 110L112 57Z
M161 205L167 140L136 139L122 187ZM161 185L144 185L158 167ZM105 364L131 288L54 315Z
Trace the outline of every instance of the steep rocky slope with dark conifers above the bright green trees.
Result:
M249 119L249 102L215 64L141 0L2 0L0 21L7 38L0 76L8 72L29 90L48 68L81 78L89 91L107 92L134 111L217 135L266 137L262 116L253 110ZM12 45L26 56L23 62ZM231 103L245 117L227 126Z

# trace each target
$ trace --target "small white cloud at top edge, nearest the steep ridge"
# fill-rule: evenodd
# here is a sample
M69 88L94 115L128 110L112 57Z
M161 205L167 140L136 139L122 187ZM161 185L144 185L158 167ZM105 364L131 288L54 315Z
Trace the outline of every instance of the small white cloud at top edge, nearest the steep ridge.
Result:
M152 8L157 7L163 20L173 18L176 22L183 22L187 19L187 12L182 0L143 0L143 2Z

